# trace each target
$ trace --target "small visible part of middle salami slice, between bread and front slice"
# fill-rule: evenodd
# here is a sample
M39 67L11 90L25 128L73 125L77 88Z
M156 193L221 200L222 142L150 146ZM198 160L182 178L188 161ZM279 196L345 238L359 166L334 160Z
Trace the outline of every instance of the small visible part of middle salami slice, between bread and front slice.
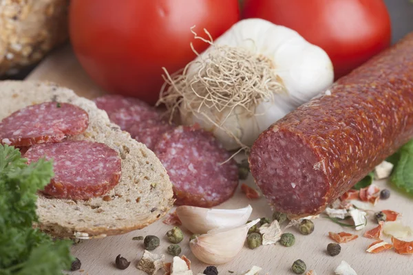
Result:
M131 126L129 133L131 137L134 137L138 142L142 142L153 151L160 137L174 127L163 120L144 120Z

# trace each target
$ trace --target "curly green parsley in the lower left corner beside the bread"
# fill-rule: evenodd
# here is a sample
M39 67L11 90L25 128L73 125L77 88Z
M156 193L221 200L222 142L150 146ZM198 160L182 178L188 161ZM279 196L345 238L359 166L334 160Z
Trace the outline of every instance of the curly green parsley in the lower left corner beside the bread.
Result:
M0 145L0 274L61 274L72 263L70 241L34 229L36 192L54 176L52 162L26 164L19 150Z

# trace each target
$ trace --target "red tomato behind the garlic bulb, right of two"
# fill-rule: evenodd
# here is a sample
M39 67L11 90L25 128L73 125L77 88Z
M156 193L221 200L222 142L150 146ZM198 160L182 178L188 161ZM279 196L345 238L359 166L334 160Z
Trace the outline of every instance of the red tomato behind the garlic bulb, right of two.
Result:
M336 79L390 45L382 0L246 0L243 15L284 25L323 48Z

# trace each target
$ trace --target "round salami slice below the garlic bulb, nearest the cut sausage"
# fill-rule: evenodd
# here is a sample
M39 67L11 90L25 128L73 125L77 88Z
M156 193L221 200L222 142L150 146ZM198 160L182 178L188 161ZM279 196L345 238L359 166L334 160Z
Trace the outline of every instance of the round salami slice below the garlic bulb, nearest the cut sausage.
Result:
M237 164L225 162L231 155L211 133L178 126L162 135L154 152L167 169L178 205L217 206L237 188Z

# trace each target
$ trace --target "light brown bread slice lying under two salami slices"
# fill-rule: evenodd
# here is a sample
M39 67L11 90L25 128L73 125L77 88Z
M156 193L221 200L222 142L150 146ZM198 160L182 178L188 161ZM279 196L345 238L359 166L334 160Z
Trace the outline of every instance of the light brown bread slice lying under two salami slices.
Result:
M0 82L0 120L30 104L69 102L89 114L85 133L71 140L102 142L119 152L122 177L103 197L52 199L39 195L39 228L54 236L92 239L144 228L165 216L173 206L172 184L156 155L129 133L109 122L107 113L91 100L53 83Z

